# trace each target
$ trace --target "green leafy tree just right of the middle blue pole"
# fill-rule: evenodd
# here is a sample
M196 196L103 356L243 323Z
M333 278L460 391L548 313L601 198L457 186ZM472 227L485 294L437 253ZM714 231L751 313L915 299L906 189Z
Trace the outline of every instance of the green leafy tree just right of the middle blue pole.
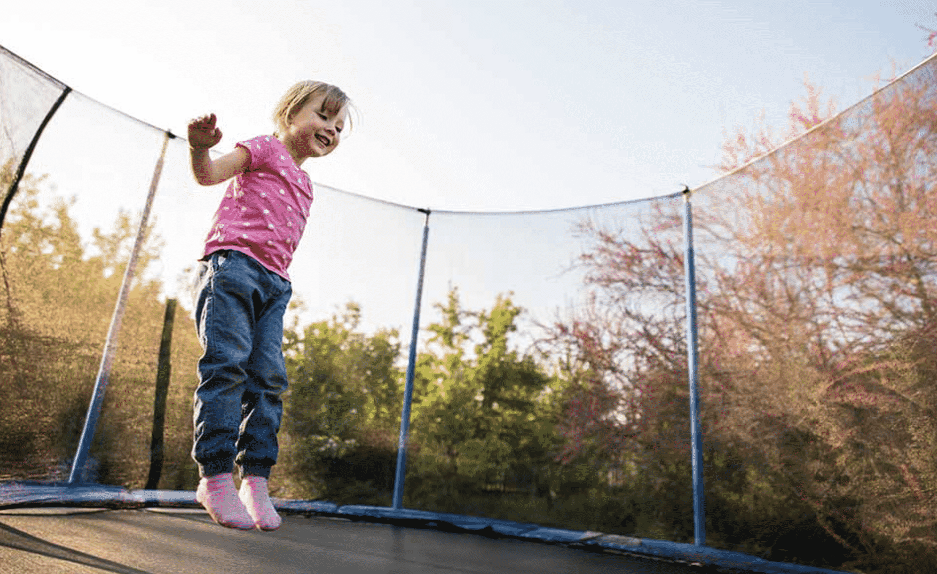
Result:
M468 312L455 289L436 307L441 320L427 327L414 377L410 498L453 508L464 494L548 492L561 383L510 348L522 309L498 297Z

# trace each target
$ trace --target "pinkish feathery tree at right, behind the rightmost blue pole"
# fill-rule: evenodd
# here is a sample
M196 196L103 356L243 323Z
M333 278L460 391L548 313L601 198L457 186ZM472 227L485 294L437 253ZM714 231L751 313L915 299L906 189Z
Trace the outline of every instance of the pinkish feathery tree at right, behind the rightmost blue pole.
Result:
M738 522L764 513L745 528L713 522L710 539L791 557L779 530L810 528L798 518L807 508L840 546L814 549L818 560L875 567L896 548L911 560L937 547L937 394L924 350L937 327L933 85L923 66L835 117L808 87L789 133L806 135L775 147L767 131L739 134L726 142L727 175L693 193L710 522L725 515L713 505ZM590 438L639 453L651 475L649 463L670 460L667 437L689 437L670 409L686 385L677 210L658 204L637 241L584 222L594 299L556 329L592 373L577 400L594 408L568 409L563 423L573 445L595 431L589 420L618 415ZM786 526L770 518L785 513Z

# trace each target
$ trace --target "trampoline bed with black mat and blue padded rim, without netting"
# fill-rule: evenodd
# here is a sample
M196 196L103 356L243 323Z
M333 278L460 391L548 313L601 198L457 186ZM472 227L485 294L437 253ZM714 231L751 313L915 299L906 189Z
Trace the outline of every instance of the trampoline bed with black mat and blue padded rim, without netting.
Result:
M0 572L834 572L533 523L274 502L284 517L278 530L243 532L213 522L195 493L9 482L0 485Z

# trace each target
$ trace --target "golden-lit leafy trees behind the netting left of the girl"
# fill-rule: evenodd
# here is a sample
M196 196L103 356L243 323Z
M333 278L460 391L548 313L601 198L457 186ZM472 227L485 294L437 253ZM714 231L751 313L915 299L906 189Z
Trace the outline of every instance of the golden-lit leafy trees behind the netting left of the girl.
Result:
M3 180L6 188L8 173ZM110 324L129 245L131 217L120 213L111 232L95 229L97 252L88 257L72 202L54 199L39 208L38 184L28 175L10 206L0 235L4 279L0 396L12 405L0 423L0 475L66 478L81 433L104 337ZM140 274L158 258L152 224L142 250ZM153 392L163 304L160 285L138 279L130 292L118 353L99 420L92 457L97 480L142 486L149 463ZM166 472L173 488L194 486L191 393L201 355L191 321L177 320ZM24 437L28 439L24 440ZM164 482L166 483L166 482Z

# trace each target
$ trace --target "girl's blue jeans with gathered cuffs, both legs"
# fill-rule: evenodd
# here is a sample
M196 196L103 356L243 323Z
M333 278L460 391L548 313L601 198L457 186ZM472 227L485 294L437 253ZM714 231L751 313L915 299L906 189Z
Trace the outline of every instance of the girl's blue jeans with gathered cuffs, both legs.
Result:
M202 477L269 478L287 390L283 314L290 282L237 251L200 261L196 330L204 349L195 390L192 458Z

